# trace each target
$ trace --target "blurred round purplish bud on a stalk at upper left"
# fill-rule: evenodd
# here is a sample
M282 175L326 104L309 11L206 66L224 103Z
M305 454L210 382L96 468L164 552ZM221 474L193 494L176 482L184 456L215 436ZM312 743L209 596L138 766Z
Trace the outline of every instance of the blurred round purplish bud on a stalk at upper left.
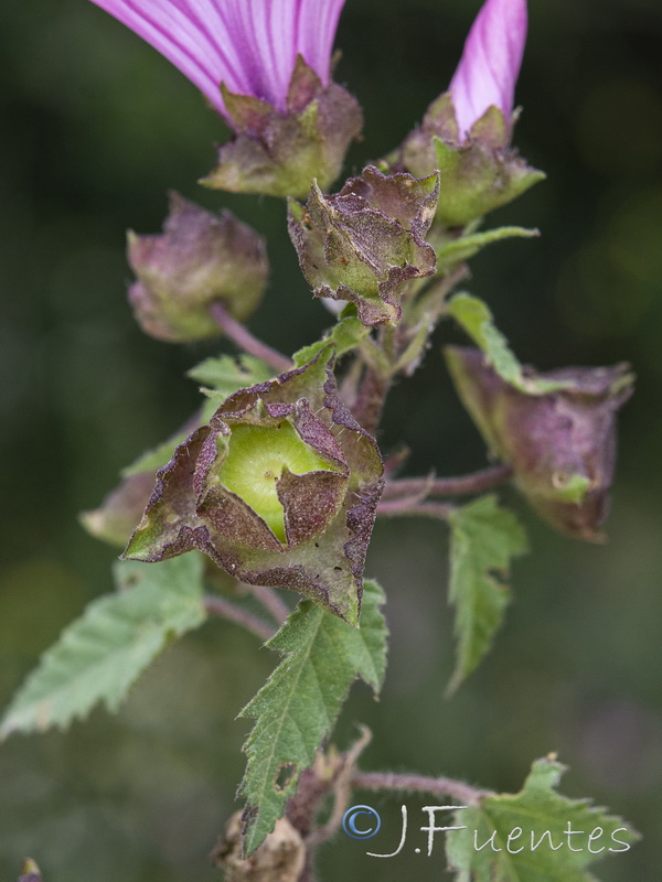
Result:
M163 233L128 235L137 281L129 301L146 334L180 343L221 333L210 306L221 301L239 320L263 295L268 263L263 239L229 212L220 216L177 193Z

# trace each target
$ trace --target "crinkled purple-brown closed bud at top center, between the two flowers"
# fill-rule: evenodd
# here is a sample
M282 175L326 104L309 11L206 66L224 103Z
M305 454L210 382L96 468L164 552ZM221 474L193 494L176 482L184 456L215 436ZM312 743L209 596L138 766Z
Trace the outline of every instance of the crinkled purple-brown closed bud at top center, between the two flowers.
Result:
M313 182L306 206L290 201L290 238L314 295L354 302L366 325L399 321L407 282L436 268L424 236L438 193L437 174L417 180L369 165L333 196Z

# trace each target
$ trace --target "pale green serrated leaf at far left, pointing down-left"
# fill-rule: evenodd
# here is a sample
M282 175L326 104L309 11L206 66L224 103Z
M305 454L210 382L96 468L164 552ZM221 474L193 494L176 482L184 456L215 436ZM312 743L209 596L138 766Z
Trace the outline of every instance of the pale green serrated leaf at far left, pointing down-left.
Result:
M42 656L10 703L0 739L65 728L104 702L115 711L173 637L204 622L203 559L116 564L117 594L99 598Z

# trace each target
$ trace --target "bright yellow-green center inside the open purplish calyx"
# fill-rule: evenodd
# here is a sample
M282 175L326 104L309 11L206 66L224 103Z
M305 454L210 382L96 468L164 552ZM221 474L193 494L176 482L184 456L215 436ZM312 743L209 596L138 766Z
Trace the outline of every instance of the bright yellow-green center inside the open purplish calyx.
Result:
M337 471L286 420L277 426L234 426L218 471L223 486L249 505L280 542L286 541L285 510L277 483L286 466L295 475Z

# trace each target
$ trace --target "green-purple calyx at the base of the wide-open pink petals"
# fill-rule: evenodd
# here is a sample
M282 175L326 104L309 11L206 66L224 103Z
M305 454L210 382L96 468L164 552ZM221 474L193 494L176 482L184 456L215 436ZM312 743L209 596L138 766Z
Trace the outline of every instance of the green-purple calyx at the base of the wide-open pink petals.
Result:
M317 179L328 189L349 146L361 133L355 98L320 77L299 56L286 107L221 88L234 138L218 148L218 164L201 183L232 193L305 196Z

